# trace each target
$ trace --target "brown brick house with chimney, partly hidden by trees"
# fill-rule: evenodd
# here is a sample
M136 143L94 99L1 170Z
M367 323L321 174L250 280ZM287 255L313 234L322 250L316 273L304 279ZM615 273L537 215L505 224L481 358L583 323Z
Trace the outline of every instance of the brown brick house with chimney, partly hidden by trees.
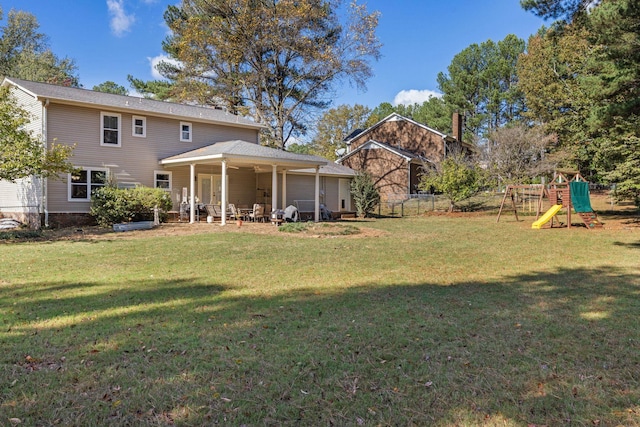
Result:
M392 113L347 137L347 152L339 164L366 171L382 200L404 199L418 192L425 165L441 162L453 152L471 151L462 142L462 118L453 115L453 136Z

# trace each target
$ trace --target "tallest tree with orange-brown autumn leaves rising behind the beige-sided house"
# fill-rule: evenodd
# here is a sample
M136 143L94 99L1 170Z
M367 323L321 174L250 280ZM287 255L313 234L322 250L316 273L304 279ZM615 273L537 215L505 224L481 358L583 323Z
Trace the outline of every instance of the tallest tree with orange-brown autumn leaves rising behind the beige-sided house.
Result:
M338 83L365 86L380 56L378 13L344 0L183 0L169 6L172 35L160 65L173 94L222 103L267 126L266 140L284 148L305 135Z

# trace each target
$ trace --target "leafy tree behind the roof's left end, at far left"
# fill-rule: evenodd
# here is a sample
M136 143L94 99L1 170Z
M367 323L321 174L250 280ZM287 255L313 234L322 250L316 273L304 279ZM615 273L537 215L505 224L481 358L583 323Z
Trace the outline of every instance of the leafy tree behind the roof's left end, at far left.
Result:
M32 14L9 12L6 26L0 27L0 75L78 87L73 60L54 55L39 28Z

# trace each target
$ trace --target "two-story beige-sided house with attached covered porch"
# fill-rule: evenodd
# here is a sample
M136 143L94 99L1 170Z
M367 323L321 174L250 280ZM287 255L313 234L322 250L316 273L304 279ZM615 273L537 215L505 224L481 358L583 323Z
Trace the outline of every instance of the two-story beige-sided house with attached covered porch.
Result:
M81 224L93 189L160 187L174 209L197 201L284 209L294 200L350 210L353 171L326 159L260 145L262 125L225 111L6 78L32 121L29 130L52 143L75 145L81 169L60 179L0 181L0 216L32 226ZM194 221L193 214L191 221ZM224 219L223 219L224 223Z

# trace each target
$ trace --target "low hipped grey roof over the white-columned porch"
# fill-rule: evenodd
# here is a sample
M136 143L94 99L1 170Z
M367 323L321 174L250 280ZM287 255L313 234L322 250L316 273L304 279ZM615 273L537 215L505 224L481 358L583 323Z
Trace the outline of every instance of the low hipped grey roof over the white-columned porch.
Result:
M253 167L256 165L276 165L281 168L309 168L324 166L328 162L316 156L289 153L284 150L265 147L247 141L217 142L206 147L187 151L160 160L160 164L185 166L189 164L227 164L236 167Z

